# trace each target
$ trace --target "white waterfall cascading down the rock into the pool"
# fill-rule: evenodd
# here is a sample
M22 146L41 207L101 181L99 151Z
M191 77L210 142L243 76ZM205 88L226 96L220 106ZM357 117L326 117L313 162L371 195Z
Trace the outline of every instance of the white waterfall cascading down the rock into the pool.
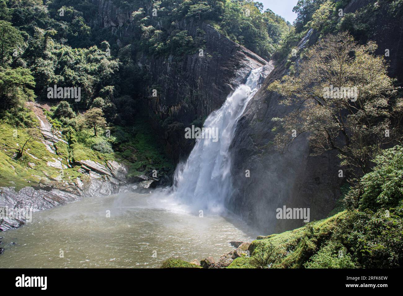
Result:
M197 139L187 161L175 171L172 195L197 211L224 210L224 200L231 194L229 146L237 121L258 90L262 69L252 70L246 84L237 87L204 122L204 128L218 128L218 141Z

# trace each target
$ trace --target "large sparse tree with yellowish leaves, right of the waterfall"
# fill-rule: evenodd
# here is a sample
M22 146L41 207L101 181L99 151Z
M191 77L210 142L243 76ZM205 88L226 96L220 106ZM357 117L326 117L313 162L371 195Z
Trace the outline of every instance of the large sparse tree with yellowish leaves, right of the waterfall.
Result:
M374 42L357 45L348 33L329 35L307 51L298 73L269 86L285 97L281 104L294 107L273 119L283 128L275 137L278 149L305 133L314 154L336 150L351 173L370 171L374 153L391 139L385 131L396 94L376 48Z

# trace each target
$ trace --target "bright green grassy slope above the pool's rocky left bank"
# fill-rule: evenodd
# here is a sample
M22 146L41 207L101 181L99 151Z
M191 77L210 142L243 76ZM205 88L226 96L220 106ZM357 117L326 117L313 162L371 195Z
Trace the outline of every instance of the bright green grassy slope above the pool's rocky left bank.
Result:
M50 119L51 112L46 113ZM27 114L33 118L30 126L37 124L33 112L27 109ZM8 122L10 121L8 120ZM28 138L27 127L13 126L8 122L2 120L0 123L2 130L0 148L22 147ZM54 124L56 121L50 119L50 122ZM61 126L59 127L61 128ZM152 170L157 170L158 176L162 176L174 168L145 119L137 118L135 125L131 127L114 126L110 129L110 138L105 137L102 133L94 137L92 130L89 129L74 131L75 141L73 143L68 145L58 142L54 145L56 154L48 151L40 139L27 143L20 159L13 158L14 149L0 150L0 186L15 186L18 191L25 186L35 186L41 179L60 180L61 178L61 180L72 182L77 177L83 176L77 171L79 166L65 167L60 172L60 168L47 165L48 161L54 162L58 158L61 159L64 166L68 166L69 160L77 162L89 159L100 164L104 164L108 160L116 160L129 166L129 176L139 176ZM17 135L15 130L17 130ZM100 141L111 143L114 153L101 153L91 149L91 145Z

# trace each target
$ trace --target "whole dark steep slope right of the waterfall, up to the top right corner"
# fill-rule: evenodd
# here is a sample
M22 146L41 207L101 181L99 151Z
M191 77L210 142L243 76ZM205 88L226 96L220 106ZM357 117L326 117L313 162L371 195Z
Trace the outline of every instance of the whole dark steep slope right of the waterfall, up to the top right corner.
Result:
M319 1L316 9L321 3L324 1ZM331 150L312 156L314 151L307 141L307 134L297 137L288 151L280 153L275 149L274 137L278 126L272 119L285 116L294 109L280 104L284 98L267 88L275 80L297 71L301 62L300 54L305 51L305 47L309 48L327 33L339 30L349 30L361 42L376 40L376 54L383 55L385 48L393 49L394 54L385 56L385 59L391 64L389 75L400 77L401 59L398 52L402 50L399 46L402 24L401 17L395 18L395 15L401 16L401 3L394 1L385 6L378 6L377 3L345 1L344 17L339 17L337 9L331 8L325 14L329 20L326 26L305 20L305 31L297 30L297 35L289 38L284 47L273 55L276 68L249 102L239 121L232 144L235 193L228 205L251 224L258 225L266 234L302 226L302 220L276 219L276 209L284 205L310 208L311 220L322 219L334 207L340 196L340 186L345 182L344 178L339 177L339 170L343 167L337 157L338 151ZM312 17L312 12L310 15ZM364 30L354 31L347 23L358 28L359 22L356 19L363 20L363 23L364 19L368 19L380 25L371 26L365 33ZM395 24L394 28L400 28L399 32L388 30L389 21ZM310 29L309 26L317 29ZM397 42L392 42L396 37ZM297 50L295 56L291 54L292 48ZM400 78L396 85L401 82ZM250 170L250 178L245 178L245 170Z

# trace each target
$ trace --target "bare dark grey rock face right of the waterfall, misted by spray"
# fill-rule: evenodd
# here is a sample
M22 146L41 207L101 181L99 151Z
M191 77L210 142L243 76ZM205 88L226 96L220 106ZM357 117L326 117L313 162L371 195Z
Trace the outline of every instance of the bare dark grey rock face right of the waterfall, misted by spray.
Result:
M353 0L344 12L354 12L369 2L373 1ZM386 59L390 60L391 77L397 77L401 82L402 60L397 52L402 49L402 20L386 20L382 8L375 15L382 25L374 29L370 39L379 45L377 54L383 55L386 48L395 53ZM389 22L396 27L391 28ZM298 47L310 46L317 39L318 34L310 31ZM299 58L291 60L298 64ZM334 152L310 156L306 138L297 138L285 153L279 153L271 147L275 136L272 118L282 117L290 111L288 107L278 104L282 99L280 95L267 90L270 83L288 73L286 60L271 62L276 64L276 68L251 99L238 122L231 145L235 192L228 200L232 211L266 234L303 225L302 219L276 219L276 209L283 209L284 206L310 208L310 221L326 217L340 197L342 183L342 178L338 177L339 159ZM245 170L250 170L250 178L245 177Z

